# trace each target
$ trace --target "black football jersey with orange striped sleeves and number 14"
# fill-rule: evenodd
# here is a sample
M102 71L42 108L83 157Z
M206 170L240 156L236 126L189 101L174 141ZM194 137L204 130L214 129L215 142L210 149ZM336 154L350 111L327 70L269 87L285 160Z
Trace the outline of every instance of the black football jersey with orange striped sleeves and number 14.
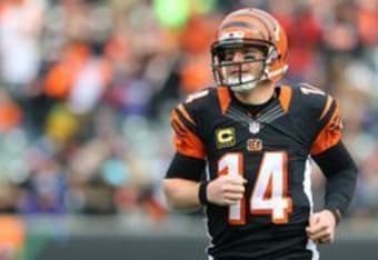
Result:
M317 259L305 228L311 213L309 157L341 139L336 101L310 86L276 88L257 114L228 88L201 90L173 109L178 153L205 159L207 179L247 179L240 203L206 207L215 259ZM200 174L198 180L200 180Z

